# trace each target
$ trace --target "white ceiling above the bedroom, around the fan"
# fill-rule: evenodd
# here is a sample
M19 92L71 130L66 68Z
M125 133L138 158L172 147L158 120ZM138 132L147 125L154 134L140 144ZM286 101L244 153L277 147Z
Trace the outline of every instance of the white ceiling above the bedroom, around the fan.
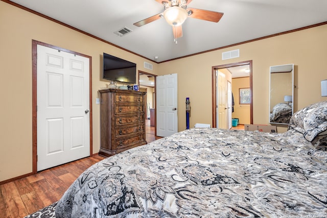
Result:
M176 45L164 18L134 22L164 11L155 0L13 0L46 16L162 62L327 21L326 0L193 0L188 7L223 12L218 23L188 18ZM127 27L123 37L115 31ZM110 53L110 51L104 51Z

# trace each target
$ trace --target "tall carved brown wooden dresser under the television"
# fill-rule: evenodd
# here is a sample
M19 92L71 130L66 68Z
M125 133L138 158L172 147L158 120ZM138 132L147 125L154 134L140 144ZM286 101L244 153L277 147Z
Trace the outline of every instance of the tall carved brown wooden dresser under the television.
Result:
M99 155L109 157L146 144L146 92L99 90L101 144Z

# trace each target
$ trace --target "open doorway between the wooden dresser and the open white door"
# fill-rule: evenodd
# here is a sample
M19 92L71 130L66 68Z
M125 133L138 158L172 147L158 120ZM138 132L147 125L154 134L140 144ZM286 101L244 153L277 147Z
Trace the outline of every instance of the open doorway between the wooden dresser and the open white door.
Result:
M156 75L149 74L138 70L138 84L140 90L145 90L147 101L146 113L146 141L149 143L156 138L156 112L155 112L155 90L156 90Z

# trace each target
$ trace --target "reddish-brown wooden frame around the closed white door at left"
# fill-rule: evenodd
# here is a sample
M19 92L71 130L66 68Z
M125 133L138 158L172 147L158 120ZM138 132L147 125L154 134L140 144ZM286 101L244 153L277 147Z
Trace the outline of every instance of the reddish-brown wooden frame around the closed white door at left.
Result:
M37 174L37 45L86 57L89 59L89 125L90 125L90 157L93 155L92 145L92 57L73 52L61 47L32 39L32 174Z

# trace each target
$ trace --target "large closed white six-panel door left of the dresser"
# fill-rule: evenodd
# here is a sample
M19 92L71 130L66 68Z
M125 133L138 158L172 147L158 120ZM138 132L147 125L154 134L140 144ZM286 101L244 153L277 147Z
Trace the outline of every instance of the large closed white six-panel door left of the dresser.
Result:
M37 171L90 155L89 59L37 45Z

